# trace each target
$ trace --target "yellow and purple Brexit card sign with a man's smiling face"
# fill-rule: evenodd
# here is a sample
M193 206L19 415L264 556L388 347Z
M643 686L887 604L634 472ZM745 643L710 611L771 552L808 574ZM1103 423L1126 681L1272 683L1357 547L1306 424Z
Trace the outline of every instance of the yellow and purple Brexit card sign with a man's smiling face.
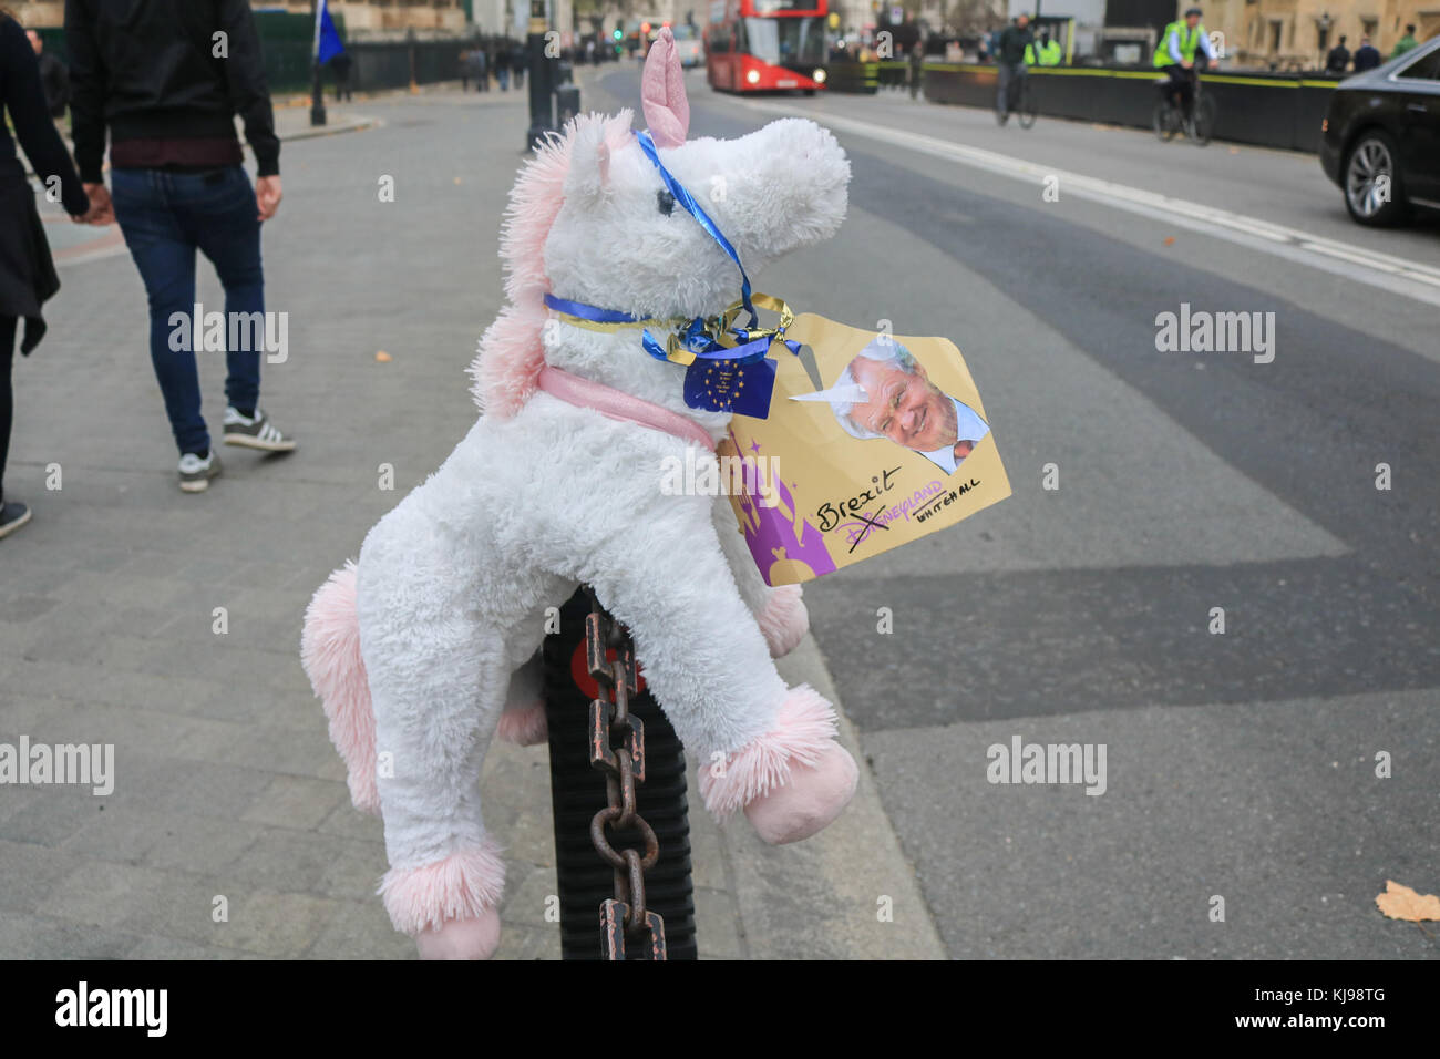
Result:
M779 346L770 415L736 415L719 455L769 585L796 585L946 529L1009 496L985 408L948 339L802 314Z

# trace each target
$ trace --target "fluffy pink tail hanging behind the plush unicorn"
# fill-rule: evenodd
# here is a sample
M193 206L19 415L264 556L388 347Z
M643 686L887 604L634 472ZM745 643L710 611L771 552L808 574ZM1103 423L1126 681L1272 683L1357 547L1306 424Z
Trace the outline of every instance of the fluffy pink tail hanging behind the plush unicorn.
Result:
M357 810L379 816L374 710L360 657L354 560L331 573L305 608L300 661L330 720L330 742L340 751L350 772L350 801Z

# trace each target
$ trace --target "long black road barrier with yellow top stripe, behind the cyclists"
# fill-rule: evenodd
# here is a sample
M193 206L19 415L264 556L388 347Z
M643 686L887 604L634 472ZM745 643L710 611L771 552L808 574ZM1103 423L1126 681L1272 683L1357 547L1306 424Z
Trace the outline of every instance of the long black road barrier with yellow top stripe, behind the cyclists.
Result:
M994 63L924 63L924 98L994 107ZM1053 118L1149 128L1159 98L1158 69L1050 66L1030 69L1040 112ZM1214 99L1215 138L1293 151L1318 151L1320 121L1335 79L1303 73L1202 73Z

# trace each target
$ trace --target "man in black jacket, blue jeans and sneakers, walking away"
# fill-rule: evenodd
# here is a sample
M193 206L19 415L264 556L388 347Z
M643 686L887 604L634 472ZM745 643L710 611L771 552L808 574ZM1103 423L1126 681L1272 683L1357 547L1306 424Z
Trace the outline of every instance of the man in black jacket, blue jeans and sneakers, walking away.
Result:
M114 209L150 300L150 359L180 448L180 488L220 473L200 414L196 249L225 287L225 444L288 452L259 408L265 314L261 222L281 200L279 140L248 0L65 0L75 160L96 210ZM235 115L255 151L252 190ZM102 183L105 131L114 200ZM206 314L210 316L210 314Z

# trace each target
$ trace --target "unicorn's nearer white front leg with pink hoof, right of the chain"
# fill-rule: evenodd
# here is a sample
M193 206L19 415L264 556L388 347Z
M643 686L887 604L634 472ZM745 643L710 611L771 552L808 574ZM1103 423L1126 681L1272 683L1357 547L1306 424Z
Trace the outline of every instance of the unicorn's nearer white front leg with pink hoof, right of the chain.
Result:
M788 689L726 562L710 500L667 497L644 532L603 545L588 572L629 627L655 697L700 764L717 817L743 810L769 843L831 823L855 790L835 742L835 712L808 686Z

